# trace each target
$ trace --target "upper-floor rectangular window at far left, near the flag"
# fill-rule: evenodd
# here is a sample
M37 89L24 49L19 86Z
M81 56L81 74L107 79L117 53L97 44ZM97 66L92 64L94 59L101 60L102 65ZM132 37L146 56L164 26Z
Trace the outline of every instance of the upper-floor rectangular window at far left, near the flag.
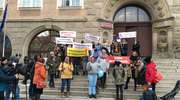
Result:
M43 0L19 0L18 6L20 8L42 8Z

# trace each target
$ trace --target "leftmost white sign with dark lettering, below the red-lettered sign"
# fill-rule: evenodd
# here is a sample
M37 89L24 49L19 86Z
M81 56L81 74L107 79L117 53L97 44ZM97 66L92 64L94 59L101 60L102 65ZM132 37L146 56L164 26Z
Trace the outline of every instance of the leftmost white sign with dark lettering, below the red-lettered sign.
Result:
M73 38L56 37L56 44L73 44Z

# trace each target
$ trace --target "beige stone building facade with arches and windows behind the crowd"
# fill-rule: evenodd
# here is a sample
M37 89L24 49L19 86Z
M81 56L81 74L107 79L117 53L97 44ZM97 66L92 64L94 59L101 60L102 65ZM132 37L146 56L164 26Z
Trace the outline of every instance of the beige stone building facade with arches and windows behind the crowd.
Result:
M5 3L0 1L2 18ZM12 54L48 51L53 45L50 37L59 36L59 31L76 31L76 42L91 33L108 43L119 32L136 31L144 55L180 58L179 0L9 0L8 4L4 31ZM52 36L43 39L41 33ZM132 45L134 40L129 41Z

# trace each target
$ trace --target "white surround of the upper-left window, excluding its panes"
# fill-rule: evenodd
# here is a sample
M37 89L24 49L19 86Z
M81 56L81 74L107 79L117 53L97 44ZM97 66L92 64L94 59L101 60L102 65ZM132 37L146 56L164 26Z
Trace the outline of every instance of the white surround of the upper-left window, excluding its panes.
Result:
M40 0L40 6L33 6L33 1L35 0L31 0L31 6L23 6L23 3L22 3L23 0L18 0L18 4L17 4L17 8L18 10L41 10L43 9L43 0Z

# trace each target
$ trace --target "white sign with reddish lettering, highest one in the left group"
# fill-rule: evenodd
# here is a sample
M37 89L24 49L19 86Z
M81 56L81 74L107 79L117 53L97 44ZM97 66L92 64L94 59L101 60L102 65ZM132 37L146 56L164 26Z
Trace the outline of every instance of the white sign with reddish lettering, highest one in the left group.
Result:
M60 37L75 38L76 32L75 31L60 31Z

